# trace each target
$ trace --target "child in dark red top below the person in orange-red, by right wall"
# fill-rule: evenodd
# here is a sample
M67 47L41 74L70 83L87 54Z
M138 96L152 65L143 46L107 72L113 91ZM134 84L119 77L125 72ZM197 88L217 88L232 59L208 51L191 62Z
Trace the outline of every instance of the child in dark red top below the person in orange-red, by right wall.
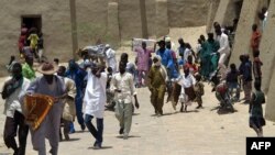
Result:
M255 51L253 53L253 75L255 80L260 81L260 84L262 84L262 69L261 67L263 66L262 60L260 59L260 51Z

